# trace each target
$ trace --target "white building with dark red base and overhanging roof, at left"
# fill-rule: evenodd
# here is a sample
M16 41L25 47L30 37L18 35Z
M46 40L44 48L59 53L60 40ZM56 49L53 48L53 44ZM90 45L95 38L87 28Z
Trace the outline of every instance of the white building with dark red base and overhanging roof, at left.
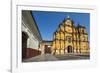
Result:
M34 56L33 50L39 49L39 44L42 41L37 24L32 16L31 11L22 11L22 57ZM29 50L31 49L31 50Z

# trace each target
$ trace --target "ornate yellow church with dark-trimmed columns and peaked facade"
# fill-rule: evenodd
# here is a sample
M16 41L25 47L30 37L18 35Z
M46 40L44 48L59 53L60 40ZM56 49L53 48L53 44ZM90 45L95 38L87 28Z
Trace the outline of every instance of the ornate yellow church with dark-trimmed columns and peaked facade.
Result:
M86 27L78 24L68 16L59 24L53 34L52 54L89 53L89 41Z

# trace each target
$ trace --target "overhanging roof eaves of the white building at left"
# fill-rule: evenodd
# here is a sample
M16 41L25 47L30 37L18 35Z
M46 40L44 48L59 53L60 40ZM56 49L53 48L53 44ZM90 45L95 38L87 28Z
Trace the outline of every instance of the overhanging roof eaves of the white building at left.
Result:
M28 26L30 31L33 33L35 38L37 38L37 40L39 40L39 41L42 41L40 31L37 27L37 23L36 23L34 17L32 16L32 11L23 10L22 11L22 20L26 23L26 25Z

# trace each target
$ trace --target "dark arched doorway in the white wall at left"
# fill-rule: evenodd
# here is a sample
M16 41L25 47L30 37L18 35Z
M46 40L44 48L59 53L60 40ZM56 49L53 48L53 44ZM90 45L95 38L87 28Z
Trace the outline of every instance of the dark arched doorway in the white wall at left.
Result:
M26 32L22 32L22 59L26 58L27 39L28 39L27 33Z

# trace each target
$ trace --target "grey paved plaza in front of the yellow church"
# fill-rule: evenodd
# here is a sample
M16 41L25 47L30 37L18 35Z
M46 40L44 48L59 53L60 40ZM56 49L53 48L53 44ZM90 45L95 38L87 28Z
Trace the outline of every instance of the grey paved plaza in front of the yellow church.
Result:
M59 60L86 60L90 56L85 54L64 54L64 55L52 55L52 54L43 54L29 59L23 59L23 62L40 62L40 61L59 61Z

